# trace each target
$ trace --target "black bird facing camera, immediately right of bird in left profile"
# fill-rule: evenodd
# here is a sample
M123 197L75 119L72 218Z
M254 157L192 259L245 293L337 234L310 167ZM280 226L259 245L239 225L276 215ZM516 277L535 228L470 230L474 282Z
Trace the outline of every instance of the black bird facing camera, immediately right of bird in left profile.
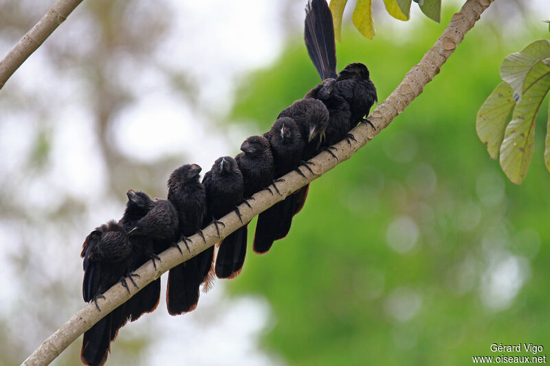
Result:
M296 170L302 161L305 141L302 139L294 119L289 117L277 119L265 136L270 141L275 163L275 176L281 177ZM302 174L299 169L297 171ZM297 197L293 194L258 216L253 247L256 253L266 253L270 250L274 240L287 236L292 224Z

